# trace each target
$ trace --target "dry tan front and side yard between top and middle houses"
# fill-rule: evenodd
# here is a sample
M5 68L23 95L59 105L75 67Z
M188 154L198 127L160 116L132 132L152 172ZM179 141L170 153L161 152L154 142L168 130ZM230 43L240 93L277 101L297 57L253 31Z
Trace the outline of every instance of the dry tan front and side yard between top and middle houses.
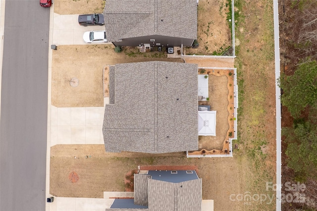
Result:
M56 107L104 106L103 67L109 64L140 61L184 62L181 58L167 58L166 53L139 53L125 48L115 53L112 45L58 46L53 51L52 105ZM77 87L71 79L79 80Z

